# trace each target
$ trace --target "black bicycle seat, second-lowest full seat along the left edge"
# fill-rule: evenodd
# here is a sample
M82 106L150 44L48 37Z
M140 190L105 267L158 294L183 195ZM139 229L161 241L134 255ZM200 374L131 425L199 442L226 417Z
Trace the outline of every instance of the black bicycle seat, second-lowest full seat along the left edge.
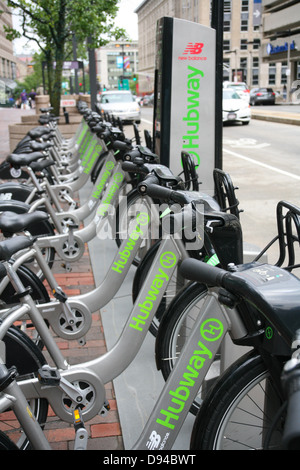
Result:
M30 225L48 220L48 218L49 215L43 211L25 212L24 214L5 211L0 214L0 230L5 237L11 237L17 232L27 230Z

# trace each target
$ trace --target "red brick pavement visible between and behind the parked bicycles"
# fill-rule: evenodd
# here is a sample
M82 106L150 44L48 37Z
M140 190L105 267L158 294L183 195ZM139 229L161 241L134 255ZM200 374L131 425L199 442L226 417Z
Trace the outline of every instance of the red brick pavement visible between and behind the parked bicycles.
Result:
M0 109L0 161L9 153L8 125L21 122L21 115L31 112L30 110ZM95 287L88 247L83 257L72 264L71 272L66 272L59 260L55 261L52 271L61 288L69 296L83 294ZM71 365L104 354L107 349L100 311L93 314L92 327L86 335L84 346L80 346L77 341L66 341L58 337L55 337L55 340ZM86 423L89 433L88 450L122 450L124 448L113 384L108 383L105 388L111 409L106 417L97 416ZM11 424L13 425L13 421ZM73 448L75 437L73 426L59 420L51 409L45 433L54 450Z

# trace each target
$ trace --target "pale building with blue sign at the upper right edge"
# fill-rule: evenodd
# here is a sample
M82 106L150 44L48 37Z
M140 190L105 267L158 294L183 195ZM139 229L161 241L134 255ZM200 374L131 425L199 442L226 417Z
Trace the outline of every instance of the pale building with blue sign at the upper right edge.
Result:
M300 2L263 0L262 31L268 82L275 89L285 85L289 96L300 80Z

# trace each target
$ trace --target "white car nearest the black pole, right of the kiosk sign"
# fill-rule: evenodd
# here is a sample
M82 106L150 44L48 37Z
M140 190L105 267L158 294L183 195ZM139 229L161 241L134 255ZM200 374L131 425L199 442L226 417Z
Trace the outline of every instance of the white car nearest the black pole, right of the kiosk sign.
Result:
M250 119L249 103L240 98L235 90L223 89L223 122L241 122L246 125Z

